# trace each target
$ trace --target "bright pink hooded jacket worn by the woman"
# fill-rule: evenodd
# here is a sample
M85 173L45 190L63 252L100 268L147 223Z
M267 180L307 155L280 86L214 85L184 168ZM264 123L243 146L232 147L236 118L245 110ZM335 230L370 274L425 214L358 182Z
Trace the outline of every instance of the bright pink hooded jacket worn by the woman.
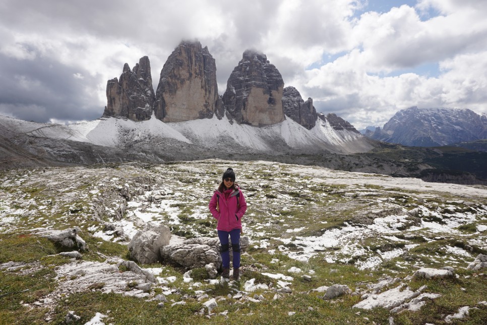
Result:
M242 229L241 218L247 210L247 202L240 189L238 189L238 191L233 190L230 195L228 195L228 198L225 198L223 193L216 190L208 207L210 208L213 218L218 220L217 230L229 232L237 228Z

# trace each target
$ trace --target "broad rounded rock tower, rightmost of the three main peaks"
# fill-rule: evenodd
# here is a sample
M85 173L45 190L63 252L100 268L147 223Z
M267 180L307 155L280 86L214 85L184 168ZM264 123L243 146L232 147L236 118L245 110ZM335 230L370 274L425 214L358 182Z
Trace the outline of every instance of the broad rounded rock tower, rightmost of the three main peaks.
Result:
M283 88L281 74L267 57L246 50L233 69L222 97L229 119L254 126L284 121Z

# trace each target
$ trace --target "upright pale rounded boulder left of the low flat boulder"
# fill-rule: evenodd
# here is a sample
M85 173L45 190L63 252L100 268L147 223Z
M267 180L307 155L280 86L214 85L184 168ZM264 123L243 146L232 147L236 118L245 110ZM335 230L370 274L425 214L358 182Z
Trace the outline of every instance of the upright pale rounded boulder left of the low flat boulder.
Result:
M143 264L156 263L161 260L161 247L168 245L170 238L171 231L167 226L148 223L132 238L128 246L130 257Z

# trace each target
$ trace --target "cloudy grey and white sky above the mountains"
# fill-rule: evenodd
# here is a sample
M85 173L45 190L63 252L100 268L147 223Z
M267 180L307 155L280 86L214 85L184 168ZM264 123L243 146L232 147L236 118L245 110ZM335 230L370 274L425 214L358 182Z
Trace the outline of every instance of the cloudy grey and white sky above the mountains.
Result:
M220 94L254 48L357 129L410 106L487 113L486 17L485 0L2 0L0 115L97 119L108 79L147 55L157 88L181 39L208 46Z

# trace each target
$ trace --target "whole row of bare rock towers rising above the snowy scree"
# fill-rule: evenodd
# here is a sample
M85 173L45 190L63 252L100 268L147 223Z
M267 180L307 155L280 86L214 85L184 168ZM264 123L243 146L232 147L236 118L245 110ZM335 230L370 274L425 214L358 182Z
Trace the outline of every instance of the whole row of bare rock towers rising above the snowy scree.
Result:
M336 130L358 133L334 114L317 114L313 99L304 101L294 87L284 88L277 68L255 50L243 52L228 78L223 96L218 95L215 59L201 43L182 41L164 64L154 93L148 57L131 70L126 63L120 78L108 80L104 117L163 122L227 117L230 123L273 125L286 116L311 130L318 118Z

